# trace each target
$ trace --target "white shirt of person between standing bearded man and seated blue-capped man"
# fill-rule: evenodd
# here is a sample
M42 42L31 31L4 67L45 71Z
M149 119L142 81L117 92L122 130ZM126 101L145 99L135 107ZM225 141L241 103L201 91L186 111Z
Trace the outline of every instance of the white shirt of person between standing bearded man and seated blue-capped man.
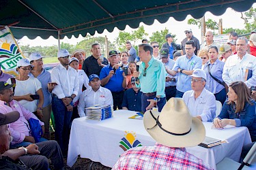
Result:
M79 70L77 70L77 73L79 74L79 94L77 94L77 96L74 97L73 103L78 101L79 97L82 95L83 85L86 88L91 88L91 86L89 86L89 78L87 77L85 71L83 71L83 69L79 69Z

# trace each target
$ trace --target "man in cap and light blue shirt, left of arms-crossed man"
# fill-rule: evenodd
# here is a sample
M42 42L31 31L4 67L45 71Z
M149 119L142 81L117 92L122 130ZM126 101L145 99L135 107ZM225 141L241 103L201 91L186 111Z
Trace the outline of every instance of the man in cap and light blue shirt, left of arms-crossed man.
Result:
M169 50L168 48L162 48L160 50L160 58L162 63L165 65L165 69L172 69L173 65L175 64L175 61L170 58ZM177 80L176 74L174 77L173 75L166 75L165 78L165 95L167 101L171 99L171 97L175 97L176 95L176 80Z

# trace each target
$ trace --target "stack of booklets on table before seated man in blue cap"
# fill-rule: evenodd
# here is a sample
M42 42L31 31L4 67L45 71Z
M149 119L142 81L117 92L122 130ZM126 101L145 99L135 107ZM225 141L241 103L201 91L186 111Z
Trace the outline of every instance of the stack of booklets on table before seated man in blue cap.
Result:
M94 105L92 107L85 108L85 114L87 119L92 120L105 120L113 117L113 105Z

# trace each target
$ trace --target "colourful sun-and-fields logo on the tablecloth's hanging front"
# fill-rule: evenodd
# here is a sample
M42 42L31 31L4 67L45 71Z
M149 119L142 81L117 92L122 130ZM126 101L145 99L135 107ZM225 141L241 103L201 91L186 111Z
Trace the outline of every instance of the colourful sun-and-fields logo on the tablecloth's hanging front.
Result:
M135 139L136 135L134 132L125 131L126 135L119 141L121 145L120 148L122 148L124 151L130 150L130 148L135 148L138 146L142 146L141 142Z

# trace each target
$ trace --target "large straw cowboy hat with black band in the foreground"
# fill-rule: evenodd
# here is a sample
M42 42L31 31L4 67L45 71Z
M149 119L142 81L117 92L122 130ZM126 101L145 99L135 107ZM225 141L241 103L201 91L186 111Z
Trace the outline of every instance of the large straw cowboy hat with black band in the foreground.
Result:
M174 148L197 146L205 138L205 127L198 118L190 116L181 98L171 98L162 112L148 110L144 127L158 143Z

